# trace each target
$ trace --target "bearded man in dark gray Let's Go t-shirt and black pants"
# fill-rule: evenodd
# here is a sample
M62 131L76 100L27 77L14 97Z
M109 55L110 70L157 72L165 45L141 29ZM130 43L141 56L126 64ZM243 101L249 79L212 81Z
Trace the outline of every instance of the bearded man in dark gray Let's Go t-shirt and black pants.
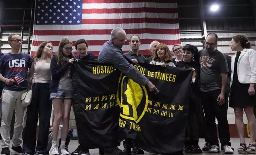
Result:
M227 102L225 102L225 89L229 68L226 57L216 49L218 36L208 34L204 41L205 49L199 51L200 55L200 94L206 117L207 143L203 151L219 153L219 140L215 118L218 121L219 139L221 149L225 153L233 153L231 148L229 123L227 121Z

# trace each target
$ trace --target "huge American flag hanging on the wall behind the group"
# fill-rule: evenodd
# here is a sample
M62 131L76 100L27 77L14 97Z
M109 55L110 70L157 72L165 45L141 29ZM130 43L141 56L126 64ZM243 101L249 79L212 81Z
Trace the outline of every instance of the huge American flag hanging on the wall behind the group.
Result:
M176 0L37 0L31 55L44 41L52 42L56 52L60 40L68 37L73 45L81 38L87 40L88 52L98 56L116 27L127 34L124 53L130 50L129 38L134 34L141 38L142 55L151 55L149 45L154 40L170 50L180 44ZM75 48L73 52L77 54Z

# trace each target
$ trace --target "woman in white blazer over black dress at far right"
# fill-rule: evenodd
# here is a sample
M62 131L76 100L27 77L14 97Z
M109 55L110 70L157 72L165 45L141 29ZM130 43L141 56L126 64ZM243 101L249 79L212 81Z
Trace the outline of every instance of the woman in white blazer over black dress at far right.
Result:
M256 153L256 119L253 113L253 108L256 106L256 51L250 49L250 42L244 35L233 36L230 46L232 51L237 51L231 61L229 107L234 108L235 111L235 124L240 138L238 152ZM251 134L248 147L246 147L244 140L244 122L242 119L244 112Z

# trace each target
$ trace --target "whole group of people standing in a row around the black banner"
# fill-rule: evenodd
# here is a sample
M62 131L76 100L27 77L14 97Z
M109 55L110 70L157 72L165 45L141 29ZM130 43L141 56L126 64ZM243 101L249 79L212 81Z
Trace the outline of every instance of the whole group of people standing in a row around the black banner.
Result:
M204 49L198 51L194 45L174 45L174 59L169 47L164 43L153 41L149 50L152 56L145 58L140 54L140 37L133 35L129 44L131 50L122 52L122 46L127 41L126 32L122 28L114 28L111 38L104 43L98 61L114 65L140 85L147 86L149 91L158 91L157 87L141 74L127 59L135 63L147 63L161 67L172 66L191 69L193 71L192 86L189 97L189 112L186 125L184 151L186 153L234 153L231 147L227 108L234 108L235 124L237 126L240 146L239 153L256 153L256 119L253 108L256 106L256 51L250 49L248 38L243 35L233 36L232 51L237 51L231 58L217 50L218 37L208 34L204 40ZM20 51L22 40L17 34L8 37L12 50L6 55L0 55L0 81L3 83L2 99L2 151L1 155L10 155L10 124L13 110L16 111L14 136L12 138L12 153L17 155L68 155L66 135L69 128L69 117L72 106L72 64L79 60L94 60L87 53L88 43L84 39L77 40L75 49L78 55L72 54L73 43L63 38L56 55L52 56L52 43L42 42L32 58ZM23 93L32 89L32 101L29 106L21 104ZM229 105L228 105L229 98ZM52 147L47 150L50 116L54 108L52 124ZM250 141L244 140L243 111L249 123ZM26 121L23 121L26 115ZM39 134L37 138L37 121L39 116ZM221 147L217 137L215 118L218 121L218 132ZM62 121L60 147L57 146L57 136ZM23 127L25 132L23 135ZM205 146L198 145L200 127L205 128ZM79 139L79 135L78 135ZM136 139L124 140L124 150L118 149L120 144L109 148L99 148L99 154L130 155L144 154ZM72 155L88 155L86 146L78 146Z

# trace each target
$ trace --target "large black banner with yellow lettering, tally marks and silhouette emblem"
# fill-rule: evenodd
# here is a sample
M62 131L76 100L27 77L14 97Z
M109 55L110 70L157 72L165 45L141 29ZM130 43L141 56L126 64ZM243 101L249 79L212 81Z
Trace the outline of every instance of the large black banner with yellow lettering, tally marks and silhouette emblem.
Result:
M151 92L114 66L74 64L74 113L81 146L111 148L136 138L150 153L182 154L192 71L130 62L159 90Z

